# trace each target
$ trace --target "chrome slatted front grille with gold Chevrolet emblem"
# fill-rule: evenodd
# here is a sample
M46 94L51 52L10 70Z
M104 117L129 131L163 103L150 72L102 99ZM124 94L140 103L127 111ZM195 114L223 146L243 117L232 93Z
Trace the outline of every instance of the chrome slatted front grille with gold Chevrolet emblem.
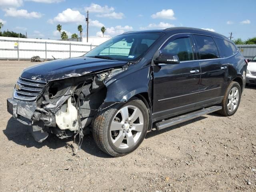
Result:
M19 78L15 85L13 97L23 101L36 100L46 86L45 81Z

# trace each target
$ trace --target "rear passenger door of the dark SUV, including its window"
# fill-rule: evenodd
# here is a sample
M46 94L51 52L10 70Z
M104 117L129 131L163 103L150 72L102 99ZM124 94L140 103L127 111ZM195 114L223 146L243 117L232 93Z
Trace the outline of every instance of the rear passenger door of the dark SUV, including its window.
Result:
M211 36L194 34L197 54L201 67L199 100L210 100L223 96L226 87L227 64L218 52L216 43Z

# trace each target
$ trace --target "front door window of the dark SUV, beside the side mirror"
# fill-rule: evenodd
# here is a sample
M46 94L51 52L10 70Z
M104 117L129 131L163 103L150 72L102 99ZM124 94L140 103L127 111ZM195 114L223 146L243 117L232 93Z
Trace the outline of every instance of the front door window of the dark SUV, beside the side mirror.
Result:
M194 60L190 37L182 37L167 42L161 52L167 52L172 55L178 55L180 61Z

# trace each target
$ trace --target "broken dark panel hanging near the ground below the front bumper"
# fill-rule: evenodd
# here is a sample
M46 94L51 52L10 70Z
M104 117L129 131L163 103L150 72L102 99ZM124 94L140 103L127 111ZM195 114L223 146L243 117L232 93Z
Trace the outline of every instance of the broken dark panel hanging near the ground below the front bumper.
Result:
M43 122L36 122L29 126L29 132L32 134L34 140L41 143L48 137L48 128L44 126Z

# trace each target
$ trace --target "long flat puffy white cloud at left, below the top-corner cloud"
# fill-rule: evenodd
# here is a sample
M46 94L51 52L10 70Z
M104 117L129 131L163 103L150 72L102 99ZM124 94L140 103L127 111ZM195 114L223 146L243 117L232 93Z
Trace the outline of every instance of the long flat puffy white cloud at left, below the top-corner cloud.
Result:
M5 9L5 14L4 16L10 16L10 17L22 17L22 18L41 18L43 16L43 14L39 13L39 12L28 12L25 9L20 9L17 10L16 8L8 8Z

